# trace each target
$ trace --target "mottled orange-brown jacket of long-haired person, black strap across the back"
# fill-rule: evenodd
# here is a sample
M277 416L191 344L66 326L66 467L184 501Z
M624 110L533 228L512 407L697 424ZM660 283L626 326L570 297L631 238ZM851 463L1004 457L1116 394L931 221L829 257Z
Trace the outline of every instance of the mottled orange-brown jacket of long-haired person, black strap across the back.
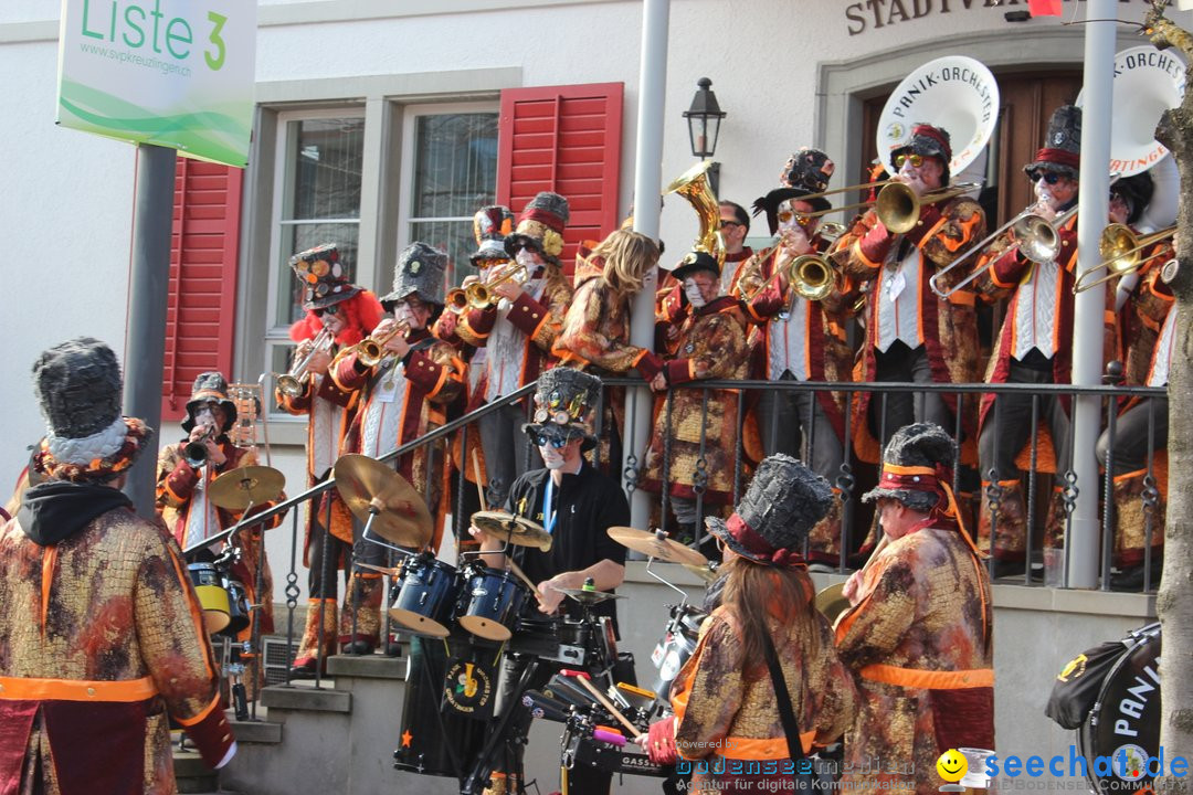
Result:
M811 580L806 574L802 578L809 602L797 615L772 614L768 620L806 754L814 740L827 745L849 727L858 694L833 647L833 631L810 604ZM790 759L791 753L769 669L765 660L742 657L741 628L730 608L718 607L704 620L696 652L672 685L670 702L679 754L707 759L707 769L717 774L706 775L705 765L693 765L692 789L703 791L700 784L710 778L731 780L749 772L755 774L748 776L755 788L762 778L791 781L790 772L766 777L766 768L759 764Z

